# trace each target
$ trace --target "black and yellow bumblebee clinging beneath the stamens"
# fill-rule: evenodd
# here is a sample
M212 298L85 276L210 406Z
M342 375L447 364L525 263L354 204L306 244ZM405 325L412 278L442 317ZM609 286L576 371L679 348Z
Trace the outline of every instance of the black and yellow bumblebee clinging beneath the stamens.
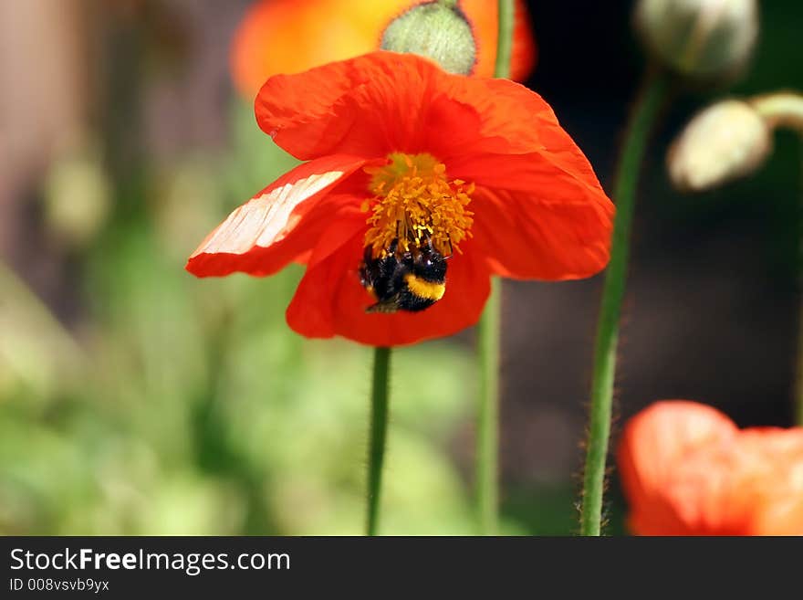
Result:
M379 258L365 248L360 282L377 302L366 312L418 312L443 298L446 291L446 258L428 241L412 251L399 252L399 240Z

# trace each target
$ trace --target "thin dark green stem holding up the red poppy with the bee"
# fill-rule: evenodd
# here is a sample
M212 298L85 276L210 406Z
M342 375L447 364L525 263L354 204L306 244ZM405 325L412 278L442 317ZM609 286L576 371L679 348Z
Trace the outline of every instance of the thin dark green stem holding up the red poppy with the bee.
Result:
M375 348L373 355L373 387L370 393L368 535L376 535L379 529L382 464L385 461L385 438L388 434L388 383L390 369L391 349Z

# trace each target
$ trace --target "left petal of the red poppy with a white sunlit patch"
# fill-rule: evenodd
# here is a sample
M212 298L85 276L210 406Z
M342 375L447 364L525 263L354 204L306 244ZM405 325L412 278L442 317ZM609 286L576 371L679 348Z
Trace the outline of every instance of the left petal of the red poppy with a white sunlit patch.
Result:
M198 277L275 273L315 247L329 223L359 211L360 198L329 193L366 163L332 155L297 166L236 208L193 252L186 269Z

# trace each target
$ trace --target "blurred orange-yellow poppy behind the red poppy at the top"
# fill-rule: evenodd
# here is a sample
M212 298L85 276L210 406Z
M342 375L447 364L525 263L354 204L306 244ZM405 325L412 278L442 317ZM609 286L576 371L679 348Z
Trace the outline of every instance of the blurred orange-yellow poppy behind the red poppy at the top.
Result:
M238 27L231 69L237 89L252 99L266 79L298 73L379 48L382 31L413 0L260 0ZM477 40L474 74L494 74L497 3L462 0ZM536 42L523 0L516 0L511 79L522 81L536 63Z

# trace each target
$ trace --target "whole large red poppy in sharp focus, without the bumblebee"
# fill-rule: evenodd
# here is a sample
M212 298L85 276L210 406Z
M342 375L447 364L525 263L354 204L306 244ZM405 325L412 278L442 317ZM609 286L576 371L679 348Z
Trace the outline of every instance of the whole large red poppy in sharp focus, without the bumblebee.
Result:
M218 226L189 259L199 277L307 265L287 321L308 337L379 346L449 335L478 320L492 274L588 277L608 261L613 206L589 162L534 92L374 52L268 79L256 120L308 161ZM447 261L434 305L367 313L364 248L425 244ZM437 296L437 298L435 297Z

